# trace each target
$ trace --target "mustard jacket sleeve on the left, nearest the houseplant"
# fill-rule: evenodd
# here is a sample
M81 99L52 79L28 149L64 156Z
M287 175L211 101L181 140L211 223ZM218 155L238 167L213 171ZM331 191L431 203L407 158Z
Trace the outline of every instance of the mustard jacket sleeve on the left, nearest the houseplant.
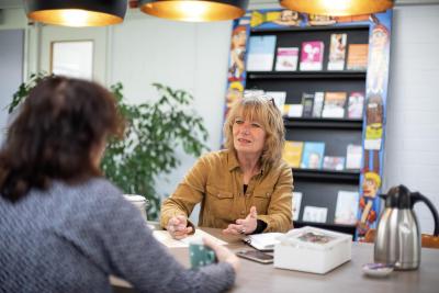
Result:
M207 164L205 157L200 158L185 174L177 190L161 204L160 226L166 227L168 221L177 215L189 217L193 207L203 200L207 181ZM193 226L192 223L188 222Z

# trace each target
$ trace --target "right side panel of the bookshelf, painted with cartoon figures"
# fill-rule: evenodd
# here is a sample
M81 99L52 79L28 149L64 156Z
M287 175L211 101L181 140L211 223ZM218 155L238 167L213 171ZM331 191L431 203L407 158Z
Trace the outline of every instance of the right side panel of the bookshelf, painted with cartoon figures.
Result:
M361 172L359 222L357 236L361 240L376 226L381 209L385 105L389 83L392 10L370 15L369 65L365 87L363 127L363 168Z

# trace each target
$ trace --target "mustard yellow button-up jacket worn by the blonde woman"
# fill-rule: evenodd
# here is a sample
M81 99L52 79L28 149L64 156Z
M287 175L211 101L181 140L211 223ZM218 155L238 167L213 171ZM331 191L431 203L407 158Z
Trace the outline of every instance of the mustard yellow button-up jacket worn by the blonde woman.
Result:
M169 218L188 216L201 203L199 226L226 228L238 218L245 218L252 205L258 219L267 223L263 232L286 232L292 228L293 176L281 161L262 166L244 193L243 172L235 153L213 151L201 157L176 192L161 205L160 225Z

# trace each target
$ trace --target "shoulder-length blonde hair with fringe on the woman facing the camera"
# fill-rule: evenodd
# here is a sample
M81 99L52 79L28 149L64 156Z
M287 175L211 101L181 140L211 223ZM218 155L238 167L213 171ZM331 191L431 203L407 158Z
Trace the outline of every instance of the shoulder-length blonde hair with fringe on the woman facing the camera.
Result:
M245 94L237 100L228 112L224 123L225 147L235 150L233 125L236 117L257 121L266 131L261 162L277 164L282 157L285 143L285 128L282 114L275 106L273 99L263 94Z

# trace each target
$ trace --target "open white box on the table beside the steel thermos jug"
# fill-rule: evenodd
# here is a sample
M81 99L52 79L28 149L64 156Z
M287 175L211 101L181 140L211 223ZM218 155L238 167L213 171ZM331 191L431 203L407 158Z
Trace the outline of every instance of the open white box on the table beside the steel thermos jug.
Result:
M274 246L274 268L326 273L351 259L352 236L314 227L295 228Z

